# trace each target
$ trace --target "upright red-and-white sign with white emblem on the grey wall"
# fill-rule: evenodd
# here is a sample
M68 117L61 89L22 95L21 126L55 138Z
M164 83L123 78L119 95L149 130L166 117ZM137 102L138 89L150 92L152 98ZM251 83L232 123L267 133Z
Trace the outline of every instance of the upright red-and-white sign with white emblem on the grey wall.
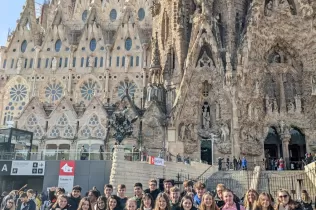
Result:
M71 192L74 185L75 161L60 161L58 187L63 187L66 192Z

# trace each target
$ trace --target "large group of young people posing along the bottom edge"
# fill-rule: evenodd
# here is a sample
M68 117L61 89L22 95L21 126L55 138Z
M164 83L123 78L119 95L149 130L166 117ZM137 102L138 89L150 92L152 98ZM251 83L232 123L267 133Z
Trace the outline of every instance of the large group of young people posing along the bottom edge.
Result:
M164 180L163 190L157 180L148 182L143 190L141 183L133 186L134 196L128 198L126 186L117 186L116 193L110 184L104 186L104 194L95 187L82 194L77 185L66 194L64 188L53 187L47 196L36 196L32 189L12 191L3 195L0 210L313 210L312 197L303 190L299 200L293 200L287 190L280 189L277 197L269 193L258 194L249 189L244 197L238 198L234 192L218 184L213 192L207 192L206 185L200 181L183 183L184 190L174 186L173 180ZM84 195L84 196L82 196ZM316 196L315 196L316 202Z

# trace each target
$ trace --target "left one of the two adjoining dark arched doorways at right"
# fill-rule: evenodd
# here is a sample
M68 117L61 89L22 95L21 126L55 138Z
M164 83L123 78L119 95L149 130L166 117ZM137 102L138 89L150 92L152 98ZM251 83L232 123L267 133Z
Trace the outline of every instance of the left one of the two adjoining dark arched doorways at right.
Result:
M272 165L272 161L283 156L282 141L274 127L269 128L268 135L264 141L264 152L268 166ZM272 168L269 167L269 169Z

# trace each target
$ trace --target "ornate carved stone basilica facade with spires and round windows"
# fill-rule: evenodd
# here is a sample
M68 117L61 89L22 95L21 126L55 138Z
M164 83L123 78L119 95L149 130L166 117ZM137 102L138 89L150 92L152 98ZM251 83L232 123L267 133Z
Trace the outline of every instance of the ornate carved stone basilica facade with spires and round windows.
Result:
M0 122L33 150L300 159L316 149L311 0L26 0L1 48Z

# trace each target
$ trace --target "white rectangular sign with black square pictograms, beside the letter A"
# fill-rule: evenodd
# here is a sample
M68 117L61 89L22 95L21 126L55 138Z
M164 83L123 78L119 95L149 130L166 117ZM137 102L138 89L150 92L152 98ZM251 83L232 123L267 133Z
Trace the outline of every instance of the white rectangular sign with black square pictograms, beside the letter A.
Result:
M12 161L13 176L44 176L45 161Z

